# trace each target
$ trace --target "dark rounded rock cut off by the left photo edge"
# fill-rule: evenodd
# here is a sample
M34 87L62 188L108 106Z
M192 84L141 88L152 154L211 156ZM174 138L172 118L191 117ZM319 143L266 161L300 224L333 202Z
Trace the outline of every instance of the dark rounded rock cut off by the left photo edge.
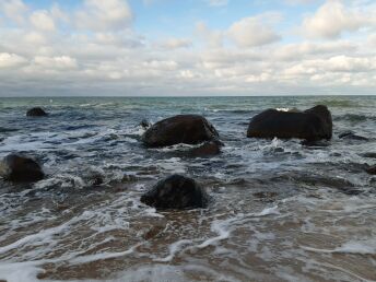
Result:
M11 181L33 183L43 179L45 174L34 160L10 154L0 162L0 176Z

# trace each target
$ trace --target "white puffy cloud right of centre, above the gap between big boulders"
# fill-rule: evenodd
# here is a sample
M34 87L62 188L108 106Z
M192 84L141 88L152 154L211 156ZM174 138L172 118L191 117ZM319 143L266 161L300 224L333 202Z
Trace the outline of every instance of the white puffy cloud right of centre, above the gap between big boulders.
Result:
M226 32L238 47L248 48L278 42L281 37L258 17L245 17L235 22Z

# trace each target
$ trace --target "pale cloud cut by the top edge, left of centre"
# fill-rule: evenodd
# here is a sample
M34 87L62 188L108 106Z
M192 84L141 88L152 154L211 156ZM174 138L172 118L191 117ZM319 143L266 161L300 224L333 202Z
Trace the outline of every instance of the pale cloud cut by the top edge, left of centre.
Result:
M118 31L128 27L132 17L127 1L85 0L83 9L77 12L77 25L94 32Z

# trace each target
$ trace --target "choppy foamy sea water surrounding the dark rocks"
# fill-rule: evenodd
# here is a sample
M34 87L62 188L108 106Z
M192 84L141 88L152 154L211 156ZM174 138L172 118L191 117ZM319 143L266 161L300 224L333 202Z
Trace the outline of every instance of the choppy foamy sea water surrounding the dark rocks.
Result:
M266 108L317 104L332 113L328 145L246 138ZM27 118L32 106L50 116ZM207 117L222 153L145 149L140 121L177 114ZM25 153L47 173L0 179L0 280L375 281L375 121L376 96L0 98L0 157ZM208 209L140 202L174 173L205 187Z

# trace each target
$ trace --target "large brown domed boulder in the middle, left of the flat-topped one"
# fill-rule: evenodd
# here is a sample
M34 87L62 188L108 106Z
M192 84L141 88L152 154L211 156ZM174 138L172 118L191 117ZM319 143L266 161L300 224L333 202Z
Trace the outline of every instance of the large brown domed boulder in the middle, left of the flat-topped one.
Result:
M157 148L179 143L199 144L219 138L214 127L198 115L179 115L163 119L142 136L146 146Z

